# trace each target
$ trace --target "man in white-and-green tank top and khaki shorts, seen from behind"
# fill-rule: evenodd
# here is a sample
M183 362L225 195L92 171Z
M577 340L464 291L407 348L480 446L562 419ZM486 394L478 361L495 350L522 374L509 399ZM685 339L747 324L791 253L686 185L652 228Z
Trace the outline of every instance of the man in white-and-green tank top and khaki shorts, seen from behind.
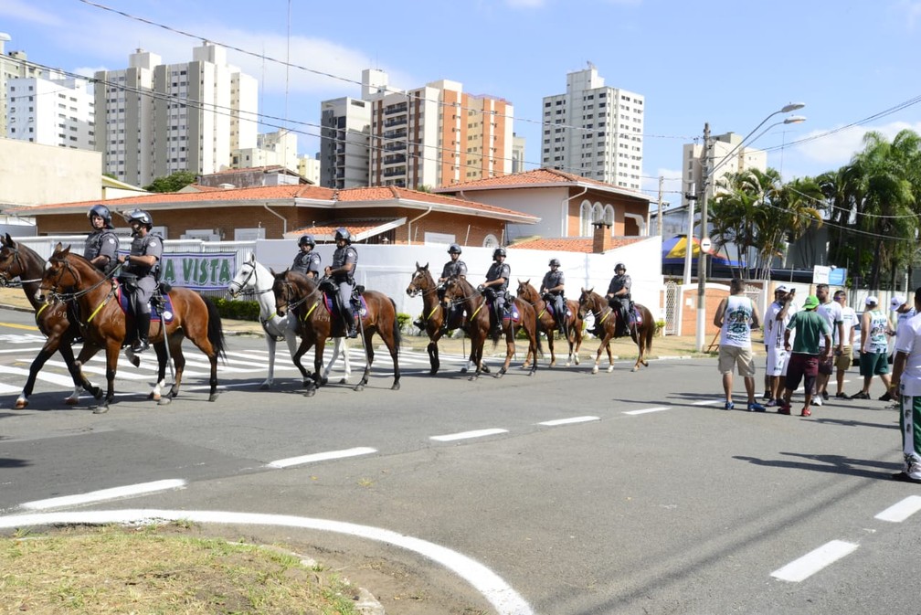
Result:
M732 410L732 370L736 368L745 380L748 411L764 412L764 406L754 399L754 357L752 328L759 327L758 308L745 296L745 283L734 278L729 283L730 295L719 302L713 324L719 327L719 373L723 375L726 410Z

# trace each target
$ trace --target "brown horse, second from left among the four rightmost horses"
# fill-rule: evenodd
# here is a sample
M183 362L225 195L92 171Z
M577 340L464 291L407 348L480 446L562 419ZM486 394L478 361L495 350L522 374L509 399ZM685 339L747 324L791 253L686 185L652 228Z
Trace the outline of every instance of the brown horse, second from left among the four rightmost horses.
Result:
M489 312L492 306L487 305L485 297L472 284L465 279L452 277L445 281L445 296L443 301L452 302L456 307L462 308L469 315L463 324L463 330L467 331L471 342L471 360L476 365L476 373L470 377L471 380L480 377L483 373L483 346L486 339L490 337L492 323L490 322ZM520 315L520 325L512 319L503 319L501 331L506 337L506 362L501 369L495 374L495 377L503 377L508 371L508 366L512 361L512 354L515 354L515 333L524 331L528 336L528 353L533 356L542 354L539 338L537 336L537 321L535 319L534 308L530 304L513 299L518 307ZM493 338L496 344L499 342L498 337ZM537 361L530 365L529 376L533 376L537 370Z

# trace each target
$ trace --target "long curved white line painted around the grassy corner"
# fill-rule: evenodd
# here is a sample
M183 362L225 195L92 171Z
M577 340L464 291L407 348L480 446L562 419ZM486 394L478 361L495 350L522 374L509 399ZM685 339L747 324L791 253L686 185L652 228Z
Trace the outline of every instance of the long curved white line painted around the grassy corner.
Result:
M499 615L534 615L533 609L498 574L482 563L457 551L451 551L427 540L405 536L390 529L360 526L342 521L314 519L306 516L262 515L256 513L227 513L208 510L99 510L86 512L36 513L31 515L0 516L0 528L25 528L52 524L107 524L157 523L162 521L192 521L192 523L219 523L238 525L304 528L348 534L367 540L413 551L429 560L440 563L457 574L493 605Z

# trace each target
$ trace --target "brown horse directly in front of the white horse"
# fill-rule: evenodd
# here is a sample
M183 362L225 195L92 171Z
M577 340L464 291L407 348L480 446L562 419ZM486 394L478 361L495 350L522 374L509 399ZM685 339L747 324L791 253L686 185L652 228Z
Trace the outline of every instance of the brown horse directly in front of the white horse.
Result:
M272 270L269 270L272 271ZM331 337L344 337L346 334L343 320L331 318L330 312L324 304L324 292L321 284L314 284L313 280L299 272L285 270L274 273L272 291L275 296L275 308L279 316L285 316L290 310L297 317L297 334L301 338L297 348L295 361L298 361L310 346L314 346L313 355L313 380L309 381L307 394L313 395L317 387L326 384L326 378L321 376L323 367L323 349L326 340ZM332 289L332 301L335 301L336 292ZM393 359L393 386L391 390L400 389L400 321L397 320L397 308L391 297L378 291L366 290L361 293L365 300L367 311L358 319L362 342L365 345L367 364L365 373L355 387L355 390L364 390L367 377L371 373L371 364L374 363L374 346L371 337L374 333L387 345ZM356 314L357 318L357 314Z

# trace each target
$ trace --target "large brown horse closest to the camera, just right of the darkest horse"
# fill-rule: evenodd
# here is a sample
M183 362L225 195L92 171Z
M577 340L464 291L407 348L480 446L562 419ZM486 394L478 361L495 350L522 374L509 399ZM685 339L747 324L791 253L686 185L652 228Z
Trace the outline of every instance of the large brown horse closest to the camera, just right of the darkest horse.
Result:
M73 289L70 291L68 289ZM70 246L62 249L58 243L51 258L45 266L41 285L36 293L40 301L52 295L64 301L73 301L79 314L88 315L86 321L79 322L80 332L87 344L104 348L106 351L106 397L101 400L94 412L108 412L109 404L114 400L115 371L118 368L119 350L126 342L126 331L133 331L134 317L122 312L116 296L119 284L99 272L82 256L70 253ZM166 338L169 341L169 354L176 366L176 377L168 398L179 394L185 357L182 355L182 339L189 338L195 346L207 355L211 362L211 390L209 401L217 399L217 358L225 358L224 329L215 304L204 296L187 288L173 288L169 291L172 301L173 319L166 325ZM129 326L131 325L131 326ZM177 335L182 331L182 335ZM164 327L161 321L151 320L150 341L157 350L161 361L161 352L166 352ZM83 356L84 353L80 355Z

